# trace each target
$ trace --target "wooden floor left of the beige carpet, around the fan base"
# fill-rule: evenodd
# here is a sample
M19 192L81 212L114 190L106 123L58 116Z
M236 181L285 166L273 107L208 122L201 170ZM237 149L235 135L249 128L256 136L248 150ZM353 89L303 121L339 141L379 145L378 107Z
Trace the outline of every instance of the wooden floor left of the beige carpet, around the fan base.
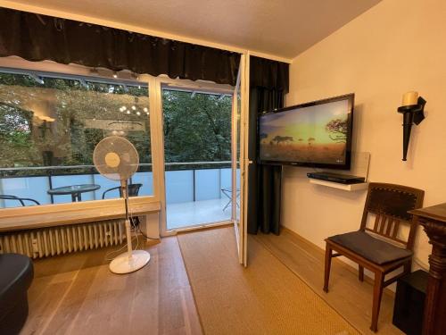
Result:
M112 274L109 250L35 263L21 334L201 334L178 239L145 247L149 266Z

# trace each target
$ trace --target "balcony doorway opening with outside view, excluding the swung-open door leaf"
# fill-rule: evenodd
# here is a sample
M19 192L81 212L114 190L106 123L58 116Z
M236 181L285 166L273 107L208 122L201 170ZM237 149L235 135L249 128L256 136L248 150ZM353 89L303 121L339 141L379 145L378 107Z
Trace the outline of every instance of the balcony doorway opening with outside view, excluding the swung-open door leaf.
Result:
M168 232L233 221L232 99L230 87L161 85Z

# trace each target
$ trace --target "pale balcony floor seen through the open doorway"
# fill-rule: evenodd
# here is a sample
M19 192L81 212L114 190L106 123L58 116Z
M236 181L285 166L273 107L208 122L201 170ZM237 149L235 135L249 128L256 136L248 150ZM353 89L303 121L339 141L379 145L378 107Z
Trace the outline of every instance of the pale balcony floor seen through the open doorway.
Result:
M231 219L231 205L223 211L229 199L211 199L167 205L168 230L195 226L198 224L228 221Z

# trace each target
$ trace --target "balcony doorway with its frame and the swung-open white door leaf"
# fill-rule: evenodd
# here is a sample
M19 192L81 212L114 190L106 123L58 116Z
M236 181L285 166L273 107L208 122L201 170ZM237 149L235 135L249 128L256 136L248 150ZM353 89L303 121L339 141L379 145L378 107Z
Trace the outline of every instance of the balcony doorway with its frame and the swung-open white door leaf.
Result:
M242 55L236 87L155 80L162 126L161 234L233 224L246 265L248 89ZM156 88L157 87L157 88Z

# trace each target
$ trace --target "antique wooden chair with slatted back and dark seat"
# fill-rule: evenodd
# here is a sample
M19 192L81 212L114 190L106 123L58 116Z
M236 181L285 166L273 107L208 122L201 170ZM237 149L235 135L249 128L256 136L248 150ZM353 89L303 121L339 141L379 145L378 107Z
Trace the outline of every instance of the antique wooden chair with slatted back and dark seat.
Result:
M364 281L364 268L375 273L372 331L377 331L384 287L411 271L417 221L408 211L421 207L424 195L425 191L417 188L370 183L359 230L326 239L324 291L328 292L332 257L343 255L359 264L359 281ZM367 227L369 214L376 215L373 228ZM410 226L407 240L398 234L402 223ZM401 267L401 274L384 280L386 273Z

